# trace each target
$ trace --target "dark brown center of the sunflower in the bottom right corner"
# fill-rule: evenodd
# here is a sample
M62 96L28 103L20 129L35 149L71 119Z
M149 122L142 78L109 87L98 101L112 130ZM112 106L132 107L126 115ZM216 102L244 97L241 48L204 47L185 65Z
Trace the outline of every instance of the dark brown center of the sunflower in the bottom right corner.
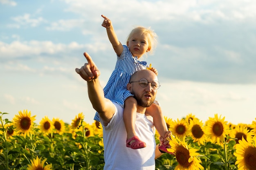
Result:
M255 170L256 167L256 148L250 146L245 150L245 165L248 170Z

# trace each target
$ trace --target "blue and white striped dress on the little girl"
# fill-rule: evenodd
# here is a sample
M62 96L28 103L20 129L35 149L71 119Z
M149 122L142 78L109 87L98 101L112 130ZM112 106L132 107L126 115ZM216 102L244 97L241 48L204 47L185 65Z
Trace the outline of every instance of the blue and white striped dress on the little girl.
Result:
M124 50L121 56L117 56L115 70L110 75L108 83L103 88L103 91L107 99L116 102L124 108L125 99L133 96L126 88L130 76L136 71L146 69L147 62L141 62L137 57L133 57L128 46L123 45L123 47ZM99 121L99 113L95 114L94 120Z

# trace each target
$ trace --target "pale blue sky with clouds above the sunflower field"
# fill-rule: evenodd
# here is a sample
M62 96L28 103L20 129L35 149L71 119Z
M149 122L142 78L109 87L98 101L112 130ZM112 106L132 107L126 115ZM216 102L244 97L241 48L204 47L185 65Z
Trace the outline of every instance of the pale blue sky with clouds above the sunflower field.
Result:
M105 86L115 52L101 26L106 15L123 44L134 26L158 35L144 60L159 72L157 100L176 120L215 113L233 124L256 115L254 0L0 0L0 111L31 111L70 123L93 122L86 82L75 73L88 52Z

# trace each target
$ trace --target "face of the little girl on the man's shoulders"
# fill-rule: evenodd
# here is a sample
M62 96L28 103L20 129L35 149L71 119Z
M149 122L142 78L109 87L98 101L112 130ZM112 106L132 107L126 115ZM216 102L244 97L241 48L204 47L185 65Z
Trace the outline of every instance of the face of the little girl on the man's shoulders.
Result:
M132 56L140 58L144 53L150 51L148 48L148 38L141 33L133 33L130 40L127 42L127 46L132 53Z

